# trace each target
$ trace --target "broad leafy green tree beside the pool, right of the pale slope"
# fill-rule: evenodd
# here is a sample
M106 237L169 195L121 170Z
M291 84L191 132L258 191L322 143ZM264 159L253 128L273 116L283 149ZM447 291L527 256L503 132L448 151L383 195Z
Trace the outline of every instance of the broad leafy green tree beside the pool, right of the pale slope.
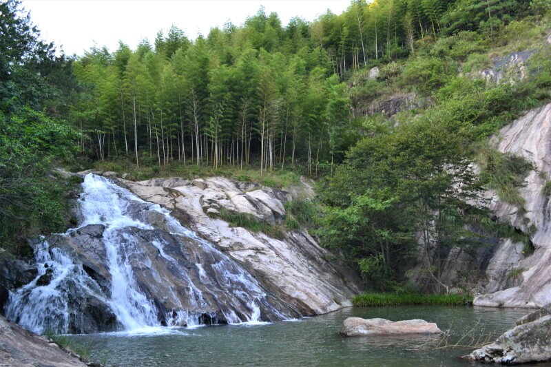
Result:
M425 274L441 289L445 251L480 244L468 223L483 211L481 185L467 158L444 119L414 120L392 134L364 138L320 189L328 205L322 243L366 266L380 257L395 273L418 238ZM352 231L355 240L339 241L333 231Z

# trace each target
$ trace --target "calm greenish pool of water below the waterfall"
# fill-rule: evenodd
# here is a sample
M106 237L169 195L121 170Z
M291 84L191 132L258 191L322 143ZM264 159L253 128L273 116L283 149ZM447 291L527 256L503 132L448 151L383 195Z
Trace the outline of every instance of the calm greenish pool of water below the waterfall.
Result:
M297 321L203 326L77 335L106 366L473 366L459 359L472 348L440 348L462 336L495 340L528 310L484 307L400 306L344 308ZM441 337L348 337L339 335L346 317L382 317L436 322ZM472 344L472 337L461 344ZM438 344L440 343L440 347ZM481 365L482 366L482 365ZM541 366L541 365L539 365Z

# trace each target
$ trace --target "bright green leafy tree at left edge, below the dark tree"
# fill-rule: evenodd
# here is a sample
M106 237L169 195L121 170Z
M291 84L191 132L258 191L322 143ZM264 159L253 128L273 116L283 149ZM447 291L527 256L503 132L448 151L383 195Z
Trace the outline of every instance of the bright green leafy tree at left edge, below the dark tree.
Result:
M75 152L76 132L60 120L22 109L0 116L0 239L16 246L25 235L63 231L72 191L52 160Z

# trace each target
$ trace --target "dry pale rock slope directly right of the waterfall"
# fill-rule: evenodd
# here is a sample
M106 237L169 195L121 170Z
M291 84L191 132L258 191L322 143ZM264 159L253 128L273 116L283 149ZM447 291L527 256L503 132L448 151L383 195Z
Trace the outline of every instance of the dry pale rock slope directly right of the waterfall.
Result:
M231 227L215 213L223 208L270 224L279 223L285 216L284 203L300 194L296 190L282 191L220 177L192 182L180 178L118 182L143 200L169 209L237 260L268 293L302 315L351 306L350 298L360 292L355 275L326 260L326 250L306 231L291 231L277 240L264 233ZM311 190L306 182L304 189Z

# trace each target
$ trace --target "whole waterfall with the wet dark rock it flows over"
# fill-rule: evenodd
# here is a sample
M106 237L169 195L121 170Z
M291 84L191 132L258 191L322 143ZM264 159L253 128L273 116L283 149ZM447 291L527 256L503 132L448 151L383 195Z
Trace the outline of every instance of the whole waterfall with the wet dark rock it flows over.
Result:
M85 176L79 205L79 228L58 235L59 244L43 239L35 247L37 277L10 293L6 316L25 328L105 331L88 327L95 322L147 331L296 316L169 211L107 178ZM99 234L86 237L90 228Z

